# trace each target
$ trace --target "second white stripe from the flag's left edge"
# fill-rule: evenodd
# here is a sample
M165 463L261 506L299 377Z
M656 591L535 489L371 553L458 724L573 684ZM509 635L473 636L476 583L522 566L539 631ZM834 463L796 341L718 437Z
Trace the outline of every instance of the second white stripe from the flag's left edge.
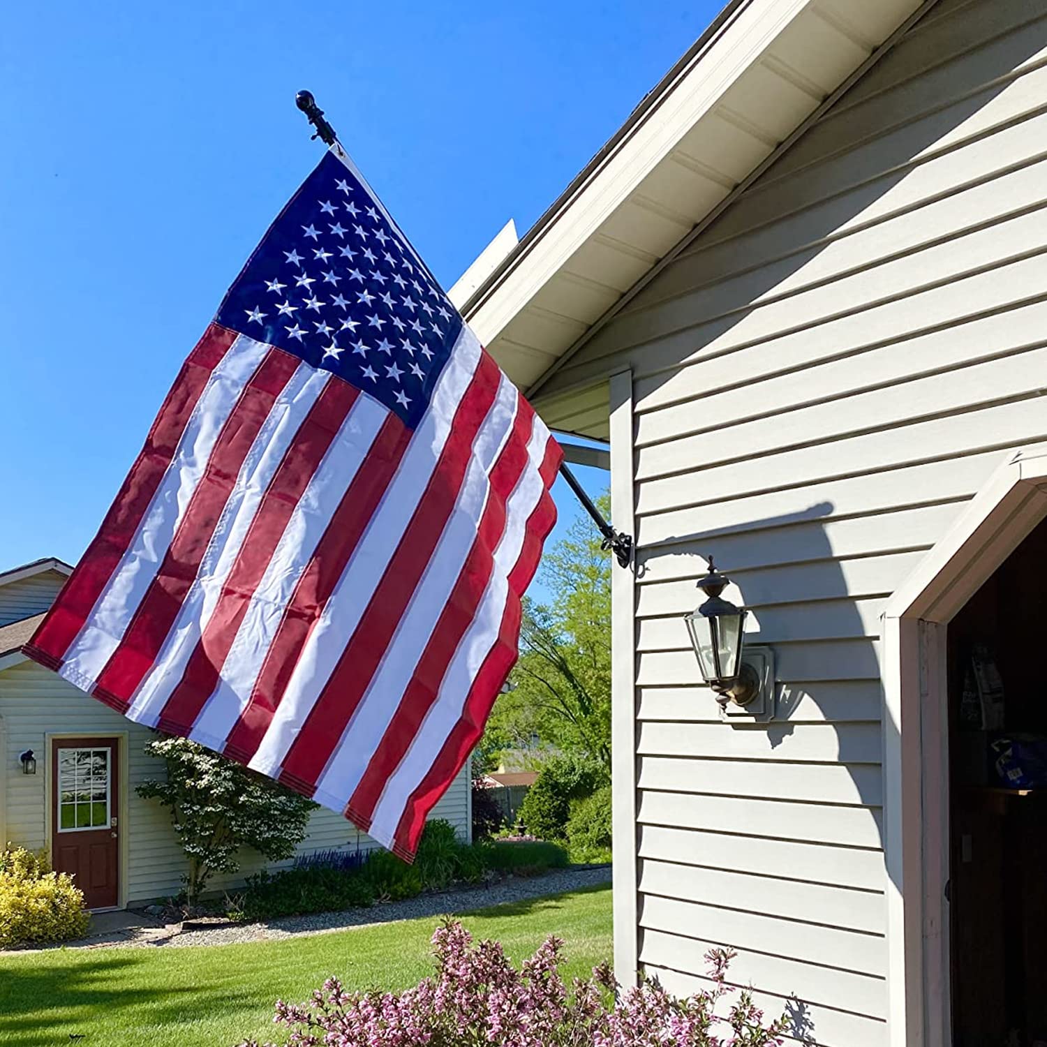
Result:
M215 612L265 493L330 378L330 371L302 363L273 401L269 417L244 459L171 632L127 711L130 719L156 726Z

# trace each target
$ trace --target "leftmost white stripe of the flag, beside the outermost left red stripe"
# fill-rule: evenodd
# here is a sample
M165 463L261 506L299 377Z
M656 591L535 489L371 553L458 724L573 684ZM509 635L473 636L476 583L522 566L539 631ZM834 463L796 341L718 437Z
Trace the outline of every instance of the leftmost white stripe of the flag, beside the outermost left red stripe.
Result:
M222 426L269 352L269 346L240 335L207 379L149 511L70 645L60 673L79 687L93 688L119 646L185 515Z

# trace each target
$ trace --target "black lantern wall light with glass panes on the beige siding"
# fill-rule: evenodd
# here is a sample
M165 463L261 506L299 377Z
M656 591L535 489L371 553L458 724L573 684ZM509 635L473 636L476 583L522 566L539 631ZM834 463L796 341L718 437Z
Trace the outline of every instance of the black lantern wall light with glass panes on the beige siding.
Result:
M698 579L706 601L684 617L701 677L726 715L751 713L770 719L774 706L774 655L768 647L745 648L745 615L720 595L731 579L709 557L709 573ZM742 653L749 656L742 659ZM731 707L734 707L733 709Z

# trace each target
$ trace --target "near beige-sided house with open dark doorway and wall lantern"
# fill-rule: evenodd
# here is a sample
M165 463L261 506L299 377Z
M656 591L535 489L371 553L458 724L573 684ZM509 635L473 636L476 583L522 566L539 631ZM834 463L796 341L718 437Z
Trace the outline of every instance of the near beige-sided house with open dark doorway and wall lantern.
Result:
M956 720L982 639L1008 729L1047 730L1047 3L737 0L514 240L465 314L609 441L638 542L619 977L687 993L725 944L799 1039L1047 1039L1047 818L963 777ZM770 722L699 686L711 554Z

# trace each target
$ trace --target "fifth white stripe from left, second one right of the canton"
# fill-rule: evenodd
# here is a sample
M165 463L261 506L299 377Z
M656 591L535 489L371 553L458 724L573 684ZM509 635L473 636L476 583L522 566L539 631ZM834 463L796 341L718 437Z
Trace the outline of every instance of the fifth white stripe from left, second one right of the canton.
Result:
M313 799L326 807L344 809L399 708L476 540L490 494L490 470L512 433L518 403L515 386L503 375L494 405L477 435L454 511L381 663L317 782Z

